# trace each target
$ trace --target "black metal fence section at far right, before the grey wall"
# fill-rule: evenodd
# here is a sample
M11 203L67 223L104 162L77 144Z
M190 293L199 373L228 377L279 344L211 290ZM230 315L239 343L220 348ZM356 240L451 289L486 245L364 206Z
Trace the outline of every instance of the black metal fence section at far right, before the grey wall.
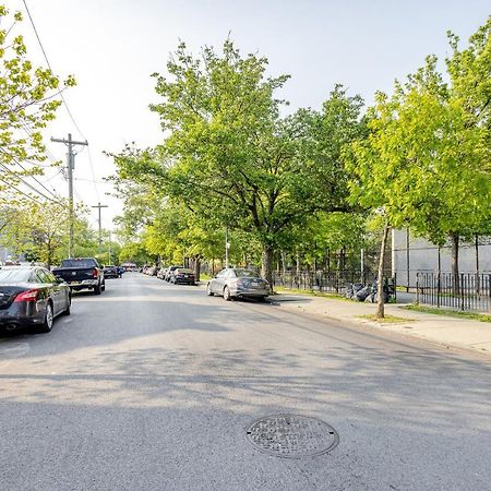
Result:
M489 312L491 274L418 273L416 301L467 312Z

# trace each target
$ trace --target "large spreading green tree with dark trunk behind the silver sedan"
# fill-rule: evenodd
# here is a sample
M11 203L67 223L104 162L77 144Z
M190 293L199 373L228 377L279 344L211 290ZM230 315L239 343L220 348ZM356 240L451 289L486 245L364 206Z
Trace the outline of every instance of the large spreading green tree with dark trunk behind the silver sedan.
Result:
M163 97L152 109L168 137L153 154L115 156L119 178L164 190L203 219L251 233L262 247L262 276L272 280L282 235L318 209L344 209L340 148L359 134L361 100L336 87L323 111L282 118L275 97L288 76L266 77L267 60L223 53L193 58L180 45L156 74ZM325 137L328 140L325 141Z

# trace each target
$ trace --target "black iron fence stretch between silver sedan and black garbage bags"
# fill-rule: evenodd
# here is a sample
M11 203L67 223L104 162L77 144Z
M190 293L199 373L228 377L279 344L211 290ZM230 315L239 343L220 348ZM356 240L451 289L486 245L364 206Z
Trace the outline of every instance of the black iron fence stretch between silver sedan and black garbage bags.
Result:
M388 274L386 277L391 277ZM375 283L376 274L366 272L363 275L359 271L331 271L316 273L303 271L274 273L274 286L280 286L290 289L299 290L316 290L326 294L344 294L349 284Z

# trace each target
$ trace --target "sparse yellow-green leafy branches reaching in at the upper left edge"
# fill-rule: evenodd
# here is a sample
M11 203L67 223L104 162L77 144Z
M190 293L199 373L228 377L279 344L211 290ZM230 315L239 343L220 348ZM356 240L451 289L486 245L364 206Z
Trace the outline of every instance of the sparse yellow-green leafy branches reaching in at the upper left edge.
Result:
M46 159L40 131L55 118L61 104L56 96L60 81L50 70L35 69L26 59L22 35L15 35L22 15L11 16L0 4L0 200L9 202L9 191L25 176L43 173ZM74 85L68 77L64 86Z

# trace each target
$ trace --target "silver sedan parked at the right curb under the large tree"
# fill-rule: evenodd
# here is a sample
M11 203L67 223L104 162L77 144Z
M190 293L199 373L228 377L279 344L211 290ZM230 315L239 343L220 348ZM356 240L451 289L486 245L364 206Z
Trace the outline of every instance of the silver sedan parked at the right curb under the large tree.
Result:
M253 271L230 267L221 270L207 283L206 294L221 295L225 300L247 297L264 301L271 290L270 284Z

